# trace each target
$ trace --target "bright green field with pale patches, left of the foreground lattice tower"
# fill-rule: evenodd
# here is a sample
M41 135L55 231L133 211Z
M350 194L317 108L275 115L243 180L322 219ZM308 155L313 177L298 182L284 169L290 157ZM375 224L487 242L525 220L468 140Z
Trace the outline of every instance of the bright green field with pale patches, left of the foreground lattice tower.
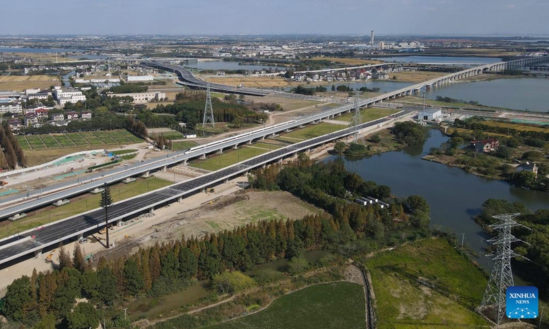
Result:
M378 328L487 326L474 312L487 278L447 241L403 245L365 265L377 300Z

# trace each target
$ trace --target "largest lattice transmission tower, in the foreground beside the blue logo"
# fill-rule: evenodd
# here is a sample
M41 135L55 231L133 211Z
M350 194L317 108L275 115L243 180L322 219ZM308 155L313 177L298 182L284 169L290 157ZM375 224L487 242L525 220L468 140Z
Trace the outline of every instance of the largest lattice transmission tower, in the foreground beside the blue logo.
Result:
M498 219L498 221L490 226L497 232L497 235L493 239L488 240L488 242L495 245L496 249L495 252L487 255L493 259L494 265L490 273L490 279L486 285L486 290L482 296L480 310L492 309L498 324L500 324L505 315L506 290L508 287L515 285L513 271L511 271L511 258L522 257L528 259L513 252L513 249L511 249L511 243L524 242L511 234L511 228L517 226L526 228L526 226L513 220L518 215L520 214L494 216L493 218ZM530 230L530 228L527 229Z

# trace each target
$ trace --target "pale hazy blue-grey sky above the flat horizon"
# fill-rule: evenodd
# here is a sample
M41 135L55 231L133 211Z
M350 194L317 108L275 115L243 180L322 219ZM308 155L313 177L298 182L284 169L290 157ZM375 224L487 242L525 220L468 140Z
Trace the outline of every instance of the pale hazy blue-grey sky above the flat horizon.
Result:
M0 34L549 34L549 0L0 0Z

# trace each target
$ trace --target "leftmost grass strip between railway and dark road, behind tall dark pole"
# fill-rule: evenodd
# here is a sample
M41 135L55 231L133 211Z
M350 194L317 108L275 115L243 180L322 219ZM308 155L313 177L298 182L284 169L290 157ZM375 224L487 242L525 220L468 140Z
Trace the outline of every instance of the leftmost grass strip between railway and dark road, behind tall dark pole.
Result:
M148 191L154 191L170 184L172 184L172 182L161 180L156 177L148 178L146 180L138 179L130 184L121 183L111 186L110 195L113 196L113 202L119 202L130 197L135 197L136 195L147 193ZM59 219L78 215L82 212L86 212L87 210L99 208L100 199L100 194L86 194L71 199L71 203L65 206L60 206L58 208L51 206L47 210L38 210L38 213L30 212L27 217L19 221L15 221L14 223L10 223L9 230L8 225L6 225L7 221L4 221L3 223L0 223L0 239L10 236L11 234L15 234L17 231L23 232Z

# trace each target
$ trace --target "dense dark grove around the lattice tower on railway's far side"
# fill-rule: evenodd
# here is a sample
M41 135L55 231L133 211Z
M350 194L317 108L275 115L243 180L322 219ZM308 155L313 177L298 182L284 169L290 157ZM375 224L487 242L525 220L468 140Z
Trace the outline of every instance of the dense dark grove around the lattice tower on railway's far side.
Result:
M202 122L204 116L204 108L206 98L204 93L188 93L188 95L176 97L176 102L168 105L159 105L152 110L156 113L175 114L174 120L182 121L187 124L187 128L194 127ZM212 97L211 104L213 107L213 116L216 122L241 121L243 123L261 122L267 119L267 115L261 112L255 112L246 108L246 106L221 101L216 97Z

